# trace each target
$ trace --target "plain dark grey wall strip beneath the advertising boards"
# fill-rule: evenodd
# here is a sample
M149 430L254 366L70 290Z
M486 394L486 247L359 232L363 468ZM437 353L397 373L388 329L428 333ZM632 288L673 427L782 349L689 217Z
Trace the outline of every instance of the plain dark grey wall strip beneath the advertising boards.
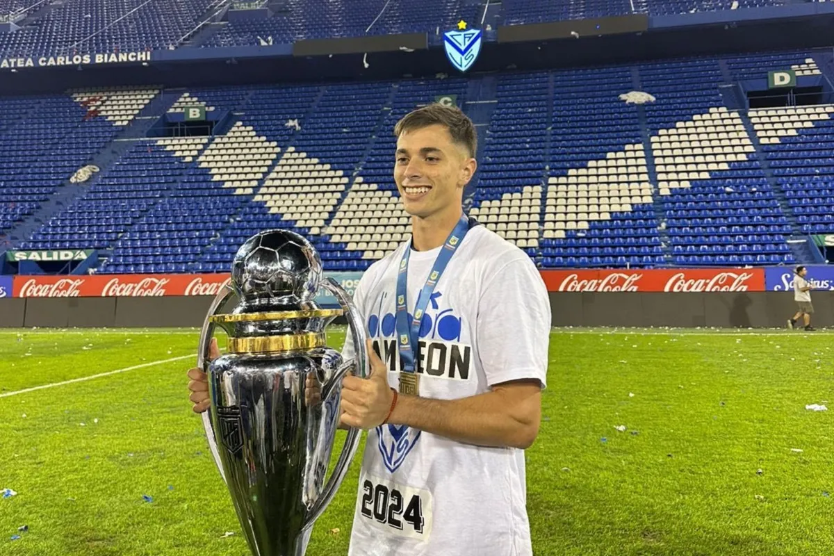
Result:
M0 328L199 327L209 296L3 298ZM834 326L834 293L813 293L813 323ZM792 292L550 292L555 327L780 328Z

